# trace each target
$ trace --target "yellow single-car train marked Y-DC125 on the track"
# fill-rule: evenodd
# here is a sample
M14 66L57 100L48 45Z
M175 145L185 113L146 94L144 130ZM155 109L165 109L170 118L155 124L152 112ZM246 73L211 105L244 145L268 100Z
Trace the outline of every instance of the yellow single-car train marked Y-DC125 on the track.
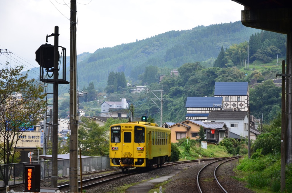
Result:
M145 121L110 126L111 166L122 171L130 167L161 166L170 161L171 131Z

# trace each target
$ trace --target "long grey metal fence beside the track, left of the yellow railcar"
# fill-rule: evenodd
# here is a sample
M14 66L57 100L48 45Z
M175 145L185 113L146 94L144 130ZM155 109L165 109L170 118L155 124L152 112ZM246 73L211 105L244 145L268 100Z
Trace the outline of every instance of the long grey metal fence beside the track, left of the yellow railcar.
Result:
M58 177L69 176L69 159L59 159ZM41 164L41 180L51 178L52 160L0 165L0 187L24 183L24 164ZM81 160L82 173L109 169L109 156L85 157ZM78 159L80 173L80 159Z

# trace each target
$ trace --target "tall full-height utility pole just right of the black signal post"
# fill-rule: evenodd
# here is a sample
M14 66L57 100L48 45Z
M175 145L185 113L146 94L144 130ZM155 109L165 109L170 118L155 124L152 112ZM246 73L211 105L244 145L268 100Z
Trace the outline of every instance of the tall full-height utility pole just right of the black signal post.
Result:
M76 0L71 0L70 6L70 192L78 192L78 130L77 130L77 56L76 56Z

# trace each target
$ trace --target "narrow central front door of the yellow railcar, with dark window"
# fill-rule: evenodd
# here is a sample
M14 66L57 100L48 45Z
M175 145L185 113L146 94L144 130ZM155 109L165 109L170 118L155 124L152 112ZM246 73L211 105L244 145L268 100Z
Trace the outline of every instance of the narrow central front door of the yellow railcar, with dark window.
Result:
M123 157L133 157L133 134L132 130L122 130Z

